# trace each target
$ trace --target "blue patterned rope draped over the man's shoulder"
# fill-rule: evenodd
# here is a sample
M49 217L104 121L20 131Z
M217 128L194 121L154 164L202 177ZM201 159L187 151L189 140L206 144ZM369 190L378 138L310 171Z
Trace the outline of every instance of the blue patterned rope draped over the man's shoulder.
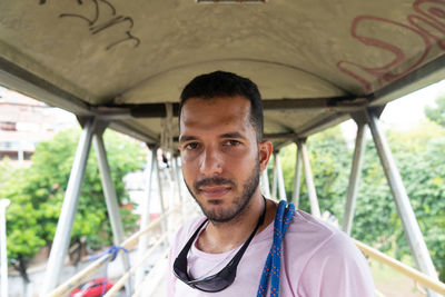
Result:
M257 297L265 297L270 279L270 296L279 296L279 271L281 266L281 244L285 237L287 227L294 216L295 206L289 204L286 208L286 201L281 200L278 205L278 210L274 222L274 244L267 255L266 264L263 268L261 279L259 281Z

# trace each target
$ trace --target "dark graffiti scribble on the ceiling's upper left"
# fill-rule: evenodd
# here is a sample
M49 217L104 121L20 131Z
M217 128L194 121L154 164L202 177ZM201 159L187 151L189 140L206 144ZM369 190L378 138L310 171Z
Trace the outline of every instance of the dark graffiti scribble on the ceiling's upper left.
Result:
M39 3L44 4L46 2L47 0L40 0ZM83 4L82 0L77 0L77 2L79 6ZM116 8L107 0L91 0L91 3L93 4L92 18L80 13L61 13L59 14L59 18L77 18L86 21L91 34L102 32L118 23L127 23L127 30L125 31L126 37L111 42L106 47L106 50L110 50L111 48L126 41L132 41L135 48L139 46L140 39L131 33L131 29L135 26L135 21L132 18L126 16L117 16ZM103 7L108 8L106 12L103 11ZM105 20L99 21L100 18Z

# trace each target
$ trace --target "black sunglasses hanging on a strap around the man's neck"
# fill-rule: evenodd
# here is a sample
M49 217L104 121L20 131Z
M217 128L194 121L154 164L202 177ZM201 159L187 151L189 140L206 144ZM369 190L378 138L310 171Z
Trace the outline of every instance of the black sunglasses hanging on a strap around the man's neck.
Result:
M254 238L255 234L257 232L259 226L263 225L265 215L266 215L266 199L263 197L265 201L265 207L263 209L261 216L258 219L257 226L255 227L254 231L250 234L249 238L244 242L243 247L238 250L238 253L234 256L234 258L222 268L219 273L212 276L204 277L201 279L194 279L188 274L187 269L187 255L190 250L191 245L195 241L195 238L198 236L200 229L207 222L207 219L198 227L195 234L190 237L187 241L186 246L179 253L178 257L174 263L174 274L175 276L180 279L186 285L199 289L202 291L216 293L224 290L228 286L230 286L236 277L236 270L238 267L239 261L243 258L244 253L246 251L247 247L249 246L251 239Z

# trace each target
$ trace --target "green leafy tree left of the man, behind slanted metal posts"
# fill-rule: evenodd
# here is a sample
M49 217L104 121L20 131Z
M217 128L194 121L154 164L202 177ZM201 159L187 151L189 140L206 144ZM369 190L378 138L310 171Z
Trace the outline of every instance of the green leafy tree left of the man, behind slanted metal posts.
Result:
M78 138L79 129L70 129L40 142L31 167L13 171L0 189L0 195L11 200L7 212L8 257L26 279L27 263L44 245L50 246L55 236ZM144 151L136 142L111 130L106 131L105 143L117 197L122 204L128 198L122 177L142 167ZM136 217L126 208L121 208L121 215L126 230L134 228ZM110 235L99 170L91 150L71 242L85 238L90 248L98 249L111 242Z

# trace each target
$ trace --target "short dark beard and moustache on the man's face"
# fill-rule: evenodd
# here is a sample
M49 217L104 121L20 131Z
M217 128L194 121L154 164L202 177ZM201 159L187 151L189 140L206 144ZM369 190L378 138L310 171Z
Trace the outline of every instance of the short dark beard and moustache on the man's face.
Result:
M202 214L210 220L215 222L227 222L236 218L249 204L254 192L257 190L259 185L259 158L257 157L255 161L255 167L250 171L249 177L246 182L243 185L243 192L240 196L234 198L234 201L227 209L219 209L218 211L214 208L206 208L204 204L201 204L196 197L195 192L199 191L199 187L201 186L210 186L210 185L229 185L233 190L236 190L237 184L229 178L222 177L211 177L204 178L194 182L194 191L190 189L190 186L185 180L188 191L194 197L195 201L199 205L202 210ZM220 201L209 201L210 204L218 205Z

